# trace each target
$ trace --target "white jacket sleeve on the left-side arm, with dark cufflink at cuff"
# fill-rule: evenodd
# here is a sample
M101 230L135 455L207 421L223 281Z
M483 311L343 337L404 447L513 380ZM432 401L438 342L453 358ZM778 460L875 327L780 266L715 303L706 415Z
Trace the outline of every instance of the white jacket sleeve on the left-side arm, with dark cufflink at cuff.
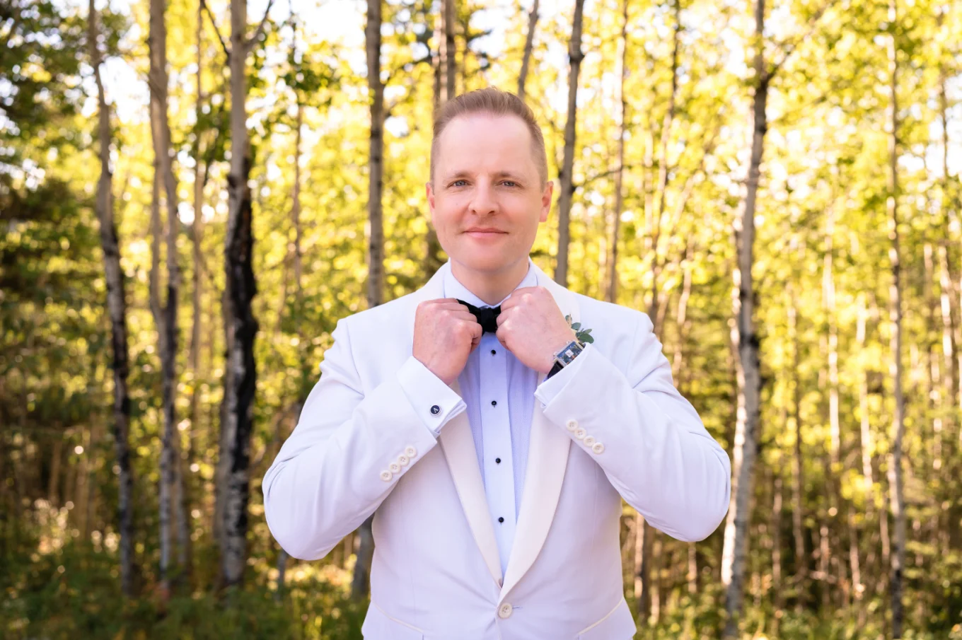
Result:
M320 380L263 483L271 534L304 560L323 557L361 525L466 409L414 356L366 392L346 320L332 337Z

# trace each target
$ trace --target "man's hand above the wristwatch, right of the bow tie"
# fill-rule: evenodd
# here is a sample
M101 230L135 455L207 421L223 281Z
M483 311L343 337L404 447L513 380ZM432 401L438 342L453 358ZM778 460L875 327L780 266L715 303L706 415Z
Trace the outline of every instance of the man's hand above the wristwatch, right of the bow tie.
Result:
M547 373L554 354L574 340L574 331L547 289L523 287L501 304L497 339L526 367Z

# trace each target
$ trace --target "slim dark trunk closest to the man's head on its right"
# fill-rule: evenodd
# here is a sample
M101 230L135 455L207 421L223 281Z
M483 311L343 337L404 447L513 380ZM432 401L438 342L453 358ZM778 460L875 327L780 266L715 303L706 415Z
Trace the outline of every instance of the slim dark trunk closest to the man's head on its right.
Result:
M571 198L574 195L574 142L577 122L578 72L585 54L581 51L581 23L585 0L574 0L574 19L571 22L571 39L568 48L570 62L568 74L568 121L565 123L565 160L559 176L558 194L558 258L554 269L555 282L568 286L568 245L570 243Z

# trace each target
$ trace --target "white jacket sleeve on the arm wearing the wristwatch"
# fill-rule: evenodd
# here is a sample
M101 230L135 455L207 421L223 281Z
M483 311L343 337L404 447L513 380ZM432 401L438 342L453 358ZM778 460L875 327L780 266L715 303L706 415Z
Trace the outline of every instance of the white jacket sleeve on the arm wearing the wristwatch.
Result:
M679 540L702 540L728 510L730 462L674 388L651 320L639 317L624 373L588 345L535 396L648 523Z

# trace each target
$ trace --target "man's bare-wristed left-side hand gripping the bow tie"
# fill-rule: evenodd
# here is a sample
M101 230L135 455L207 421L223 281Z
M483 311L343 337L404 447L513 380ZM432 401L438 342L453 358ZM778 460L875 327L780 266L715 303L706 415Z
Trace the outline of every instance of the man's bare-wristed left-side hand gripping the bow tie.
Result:
M451 384L481 343L482 333L468 307L455 298L425 300L415 313L414 356L444 384Z

